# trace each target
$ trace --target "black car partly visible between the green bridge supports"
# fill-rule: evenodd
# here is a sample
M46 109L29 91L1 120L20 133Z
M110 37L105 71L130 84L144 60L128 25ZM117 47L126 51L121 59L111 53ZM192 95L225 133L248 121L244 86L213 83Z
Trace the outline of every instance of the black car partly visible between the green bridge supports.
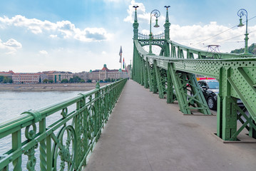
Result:
M202 88L203 95L211 110L217 109L217 94L219 93L219 82L217 80L200 80L198 81Z

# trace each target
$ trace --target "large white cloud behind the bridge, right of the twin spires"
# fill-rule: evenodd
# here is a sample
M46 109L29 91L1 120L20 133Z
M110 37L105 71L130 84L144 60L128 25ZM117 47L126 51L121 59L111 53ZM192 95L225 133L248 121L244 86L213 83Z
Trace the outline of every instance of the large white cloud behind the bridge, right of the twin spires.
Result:
M215 21L205 26L179 26L172 24L170 26L170 39L185 46L192 46L193 48L206 48L206 46L211 44L220 45L220 51L225 52L240 48L241 46L243 47L244 43L238 43L244 41L245 28L236 27L228 31L227 29L229 29L229 27L218 25ZM248 31L249 33L252 31L249 34L249 41L251 43L255 42L256 26L248 27ZM220 34L217 35L218 33Z

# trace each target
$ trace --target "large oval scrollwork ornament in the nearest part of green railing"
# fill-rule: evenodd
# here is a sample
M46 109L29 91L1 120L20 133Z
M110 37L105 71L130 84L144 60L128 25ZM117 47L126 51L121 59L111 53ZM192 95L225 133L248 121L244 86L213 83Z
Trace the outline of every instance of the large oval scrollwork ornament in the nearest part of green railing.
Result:
M76 132L71 125L58 132L58 142L53 145L54 170L74 170L76 158Z

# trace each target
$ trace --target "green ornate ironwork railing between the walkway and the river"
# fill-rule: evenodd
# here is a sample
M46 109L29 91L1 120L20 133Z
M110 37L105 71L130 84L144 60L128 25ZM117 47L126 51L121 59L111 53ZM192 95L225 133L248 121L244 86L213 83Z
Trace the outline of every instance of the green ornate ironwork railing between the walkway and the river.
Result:
M81 170L126 81L97 85L87 93L0 123L1 140L11 137L11 147L0 154L0 170ZM59 118L48 125L52 114Z

